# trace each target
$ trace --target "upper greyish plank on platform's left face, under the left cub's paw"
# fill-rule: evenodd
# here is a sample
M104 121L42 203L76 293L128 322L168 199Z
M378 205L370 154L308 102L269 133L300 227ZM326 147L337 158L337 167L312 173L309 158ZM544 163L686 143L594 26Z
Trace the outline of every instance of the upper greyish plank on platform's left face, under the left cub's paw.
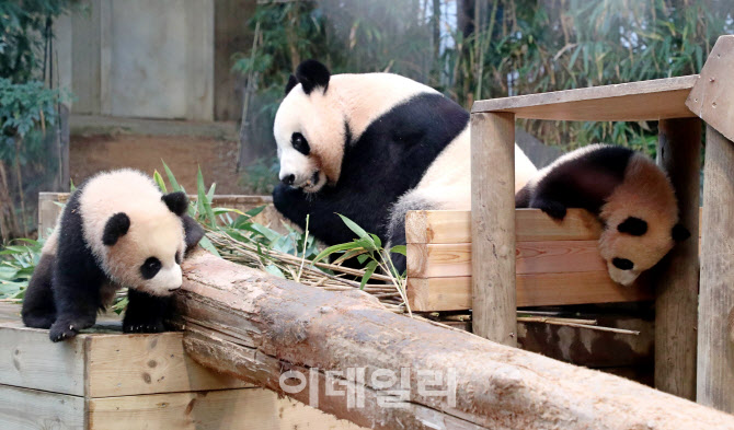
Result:
M83 396L88 336L53 344L48 330L0 324L0 384Z

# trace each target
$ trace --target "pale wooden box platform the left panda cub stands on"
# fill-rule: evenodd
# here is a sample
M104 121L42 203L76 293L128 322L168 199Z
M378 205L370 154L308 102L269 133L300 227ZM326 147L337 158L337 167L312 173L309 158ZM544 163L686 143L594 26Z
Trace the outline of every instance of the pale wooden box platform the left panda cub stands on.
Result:
M359 429L200 367L181 333L123 335L106 316L96 333L53 344L19 311L0 304L2 430Z

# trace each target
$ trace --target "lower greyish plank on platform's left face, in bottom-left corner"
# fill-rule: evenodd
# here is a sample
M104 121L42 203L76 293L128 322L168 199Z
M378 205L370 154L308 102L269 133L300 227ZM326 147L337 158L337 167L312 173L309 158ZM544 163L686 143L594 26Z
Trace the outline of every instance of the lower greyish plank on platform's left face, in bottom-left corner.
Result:
M85 430L84 398L0 385L0 429Z

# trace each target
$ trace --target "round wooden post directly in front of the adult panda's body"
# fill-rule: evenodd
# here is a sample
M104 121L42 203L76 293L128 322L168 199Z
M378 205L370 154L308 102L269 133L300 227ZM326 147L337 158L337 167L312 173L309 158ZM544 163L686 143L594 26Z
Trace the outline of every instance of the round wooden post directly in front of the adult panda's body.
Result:
M471 115L473 332L517 346L515 115Z

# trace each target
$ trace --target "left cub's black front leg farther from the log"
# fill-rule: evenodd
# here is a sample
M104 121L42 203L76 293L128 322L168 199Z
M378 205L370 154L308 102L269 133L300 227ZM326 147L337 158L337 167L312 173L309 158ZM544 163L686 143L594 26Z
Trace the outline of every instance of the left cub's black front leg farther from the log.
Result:
M79 330L94 325L100 309L100 282L76 278L65 271L57 275L54 281L57 317L48 333L51 341L72 338Z

